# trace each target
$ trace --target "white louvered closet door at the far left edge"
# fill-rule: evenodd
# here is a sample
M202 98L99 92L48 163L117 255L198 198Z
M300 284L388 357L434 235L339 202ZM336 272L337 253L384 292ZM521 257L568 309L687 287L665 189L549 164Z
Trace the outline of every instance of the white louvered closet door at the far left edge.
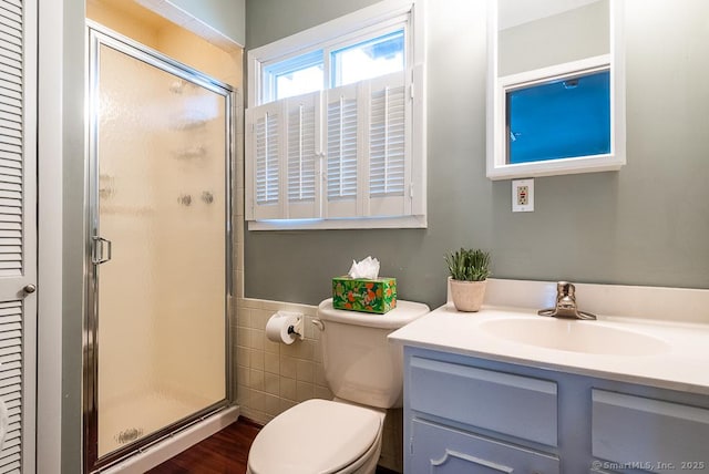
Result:
M35 3L0 0L0 473L34 472Z

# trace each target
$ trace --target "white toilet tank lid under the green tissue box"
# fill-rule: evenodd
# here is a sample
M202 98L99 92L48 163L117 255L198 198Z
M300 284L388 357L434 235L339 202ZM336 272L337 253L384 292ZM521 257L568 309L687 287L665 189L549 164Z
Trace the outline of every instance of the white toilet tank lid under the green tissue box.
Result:
M335 309L332 298L326 299L318 306L318 317L323 321L383 329L399 329L429 311L431 311L429 307L422 302L404 300L398 300L397 307L383 315Z

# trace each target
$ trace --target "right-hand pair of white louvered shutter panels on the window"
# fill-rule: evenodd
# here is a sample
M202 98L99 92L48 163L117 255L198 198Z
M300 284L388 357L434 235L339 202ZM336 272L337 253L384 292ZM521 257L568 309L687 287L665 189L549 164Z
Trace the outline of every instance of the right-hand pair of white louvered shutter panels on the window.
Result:
M405 92L403 73L328 91L327 217L411 214Z

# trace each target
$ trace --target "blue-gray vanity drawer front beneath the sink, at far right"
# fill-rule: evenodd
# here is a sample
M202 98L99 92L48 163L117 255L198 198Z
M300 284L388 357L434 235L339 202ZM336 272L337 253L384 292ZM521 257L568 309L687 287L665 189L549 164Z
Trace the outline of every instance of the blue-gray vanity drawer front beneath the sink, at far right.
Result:
M593 391L593 455L655 473L709 472L709 410Z

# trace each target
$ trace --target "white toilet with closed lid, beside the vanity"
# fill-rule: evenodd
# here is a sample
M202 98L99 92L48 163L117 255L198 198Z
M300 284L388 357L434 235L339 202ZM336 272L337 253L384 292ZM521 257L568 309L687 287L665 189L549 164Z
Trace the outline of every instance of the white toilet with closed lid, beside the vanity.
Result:
M402 348L387 336L429 312L397 301L384 315L318 307L325 379L335 400L307 400L258 433L248 474L371 474L381 453L387 409L402 405Z

